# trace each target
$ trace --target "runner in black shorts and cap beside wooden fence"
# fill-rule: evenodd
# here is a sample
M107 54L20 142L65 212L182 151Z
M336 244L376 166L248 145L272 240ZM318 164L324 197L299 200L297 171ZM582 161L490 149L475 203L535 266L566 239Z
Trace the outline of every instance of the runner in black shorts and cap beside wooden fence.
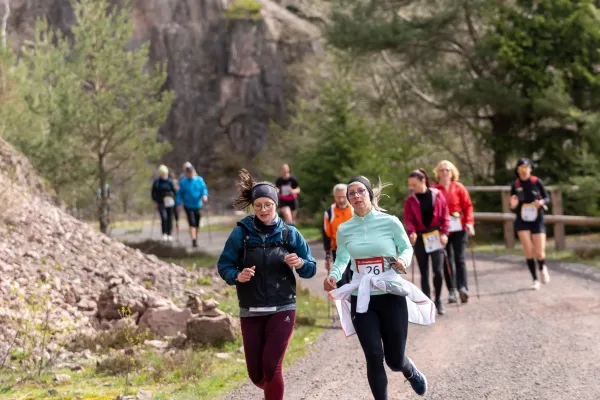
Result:
M529 272L533 278L533 290L540 289L537 278L534 255L542 275L542 283L550 282L550 274L546 266L546 224L544 209L550 202L548 192L542 180L531 175L534 164L527 158L521 158L515 167L517 179L510 189L510 208L517 214L515 230L519 235Z

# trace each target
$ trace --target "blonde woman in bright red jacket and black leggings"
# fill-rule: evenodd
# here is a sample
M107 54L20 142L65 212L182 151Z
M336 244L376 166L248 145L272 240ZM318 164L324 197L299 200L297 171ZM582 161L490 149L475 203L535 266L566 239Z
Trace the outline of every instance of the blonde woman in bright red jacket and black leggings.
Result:
M460 173L458 168L448 160L442 160L433 169L437 183L431 187L438 189L446 198L450 211L450 228L448 231L448 265L450 271L444 268L444 278L448 288L448 303L456 303L456 289L460 294L460 301L469 301L469 285L467 279L467 266L465 264L465 250L467 235L475 235L475 217L473 216L473 203L471 196L462 183L458 181ZM454 272L456 268L456 273ZM451 275L450 275L451 274ZM456 284L456 288L453 287Z

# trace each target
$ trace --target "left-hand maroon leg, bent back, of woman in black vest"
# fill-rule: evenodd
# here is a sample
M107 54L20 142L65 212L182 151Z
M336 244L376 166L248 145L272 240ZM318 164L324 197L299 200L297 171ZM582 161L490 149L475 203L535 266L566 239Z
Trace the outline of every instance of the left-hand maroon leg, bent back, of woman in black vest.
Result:
M252 383L264 389L265 379L263 373L262 354L265 347L265 317L240 318L242 327L242 339L244 343L244 355L246 357L246 368Z

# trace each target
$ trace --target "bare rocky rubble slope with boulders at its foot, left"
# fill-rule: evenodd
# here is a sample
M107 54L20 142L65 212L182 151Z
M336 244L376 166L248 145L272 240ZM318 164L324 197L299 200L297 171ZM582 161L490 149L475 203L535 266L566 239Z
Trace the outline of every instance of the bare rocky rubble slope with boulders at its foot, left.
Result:
M0 151L0 166L7 155L16 157L1 140L0 149L6 150ZM128 248L6 172L0 170L0 365L16 348L41 349L33 341L42 339L39 326L46 321L51 342L46 357L60 351L67 338L119 325L124 314L161 336L189 331L191 339L202 341L214 334L209 325L215 321L220 337L232 334L232 320L198 298L223 290L216 269L192 272Z

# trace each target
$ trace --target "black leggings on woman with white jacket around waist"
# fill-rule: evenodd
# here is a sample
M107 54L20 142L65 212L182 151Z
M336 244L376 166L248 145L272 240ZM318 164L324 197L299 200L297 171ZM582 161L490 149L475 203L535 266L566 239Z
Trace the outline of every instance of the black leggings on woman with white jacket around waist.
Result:
M404 355L408 334L406 298L393 294L371 296L366 313L356 312L356 296L351 297L352 323L367 359L367 377L375 400L387 400L387 375L383 360L392 371L412 376Z

